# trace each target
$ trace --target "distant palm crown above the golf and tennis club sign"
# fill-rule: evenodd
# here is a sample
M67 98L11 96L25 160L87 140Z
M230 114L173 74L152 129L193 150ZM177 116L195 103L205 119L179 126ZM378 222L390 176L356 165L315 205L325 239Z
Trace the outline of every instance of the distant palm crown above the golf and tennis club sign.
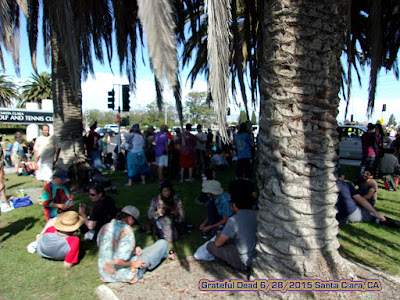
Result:
M21 107L26 102L40 102L42 99L51 99L51 77L50 74L43 72L40 75L33 74L31 79L24 84L21 92Z

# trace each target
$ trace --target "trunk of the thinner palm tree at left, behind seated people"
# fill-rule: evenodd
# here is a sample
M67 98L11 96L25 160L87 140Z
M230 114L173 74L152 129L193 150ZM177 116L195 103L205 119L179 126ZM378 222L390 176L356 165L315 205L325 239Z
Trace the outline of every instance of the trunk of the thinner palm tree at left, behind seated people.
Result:
M59 166L66 168L83 154L82 93L72 89L56 30L51 31L51 51L54 133L62 145Z

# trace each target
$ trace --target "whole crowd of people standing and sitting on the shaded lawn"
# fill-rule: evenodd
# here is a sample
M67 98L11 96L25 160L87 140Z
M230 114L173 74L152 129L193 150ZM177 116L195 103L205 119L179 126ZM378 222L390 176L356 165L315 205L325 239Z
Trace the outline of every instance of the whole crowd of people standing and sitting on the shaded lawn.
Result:
M104 147L95 131L96 123L84 138L84 149L94 169L102 172L105 157L100 150ZM384 136L375 133L376 126L368 126L363 136L363 161L361 177L355 186L345 182L344 172L338 169L339 195L336 204L339 223L376 222L393 228L400 228L400 222L380 214L375 209L378 201L378 184L374 179L377 166L392 189L396 189L395 178L399 170L397 140L383 145ZM146 184L146 178L153 173L158 176L159 190L149 197L147 223L155 242L146 248L136 244L133 226L144 228L141 212L134 205L118 208L114 198L107 194L104 185L95 183L88 190L92 205L79 204L75 207L73 193L68 185L66 170L55 168L61 151L59 141L50 135L48 125L42 126L41 136L32 147L32 157L36 178L43 182L42 204L46 225L36 240L28 245L28 251L39 256L63 260L69 268L79 260L80 241L96 242L99 249L98 272L104 282L135 283L148 270L156 268L167 257L169 243L188 234L184 204L176 192L171 179L178 183L202 180L199 196L193 202L204 206L206 218L199 230L209 241L206 251L209 255L225 261L235 269L246 271L256 256L257 243L257 192L249 180L253 174L255 159L255 139L251 126L243 123L236 133L230 129L230 142L224 143L219 134L215 137L211 131L203 132L197 126L197 134L192 134L192 125L187 124L185 131L175 129L172 135L167 126L162 125L155 133L149 127L142 133L138 124L124 132L125 143L118 145L114 169L127 168L128 182ZM379 130L379 129L378 129ZM382 132L382 131L381 131ZM11 154L6 141L0 153L2 172L0 172L0 191L5 198L4 166L12 159L22 159L22 135L15 135ZM400 141L400 140L399 140ZM17 144L17 145L16 145ZM394 147L390 147L393 144ZM15 148L15 150L14 150ZM383 155L380 155L380 152ZM24 152L25 153L25 152ZM18 155L18 157L16 156ZM374 155L373 155L374 154ZM380 156L379 159L377 156ZM236 162L235 178L229 184L227 192L217 180L218 172ZM119 164L119 166L118 166ZM125 166L122 166L125 164ZM186 171L187 170L187 171ZM185 173L188 178L185 180ZM176 178L175 178L176 177ZM392 178L392 180L391 180ZM140 187L140 186L139 186ZM3 197L4 194L4 197ZM7 200L5 200L7 203Z

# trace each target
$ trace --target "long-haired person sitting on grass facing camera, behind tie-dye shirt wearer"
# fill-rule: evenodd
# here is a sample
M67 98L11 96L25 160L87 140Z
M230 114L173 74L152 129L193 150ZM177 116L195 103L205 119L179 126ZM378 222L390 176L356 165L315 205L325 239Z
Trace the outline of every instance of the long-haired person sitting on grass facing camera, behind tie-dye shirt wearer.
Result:
M168 242L174 242L184 231L184 212L182 201L172 184L165 181L160 187L160 194L151 200L147 212L149 219L157 222L158 235Z

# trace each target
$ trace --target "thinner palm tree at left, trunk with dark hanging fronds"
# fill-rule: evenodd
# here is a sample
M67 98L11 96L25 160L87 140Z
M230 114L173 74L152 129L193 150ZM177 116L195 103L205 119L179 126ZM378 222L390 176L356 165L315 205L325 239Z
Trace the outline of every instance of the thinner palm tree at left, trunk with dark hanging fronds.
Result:
M62 143L60 158L69 165L83 153L81 78L93 74L92 53L104 62L103 45L111 60L110 2L29 0L27 27L35 69L39 16L46 61L52 69L55 134Z

